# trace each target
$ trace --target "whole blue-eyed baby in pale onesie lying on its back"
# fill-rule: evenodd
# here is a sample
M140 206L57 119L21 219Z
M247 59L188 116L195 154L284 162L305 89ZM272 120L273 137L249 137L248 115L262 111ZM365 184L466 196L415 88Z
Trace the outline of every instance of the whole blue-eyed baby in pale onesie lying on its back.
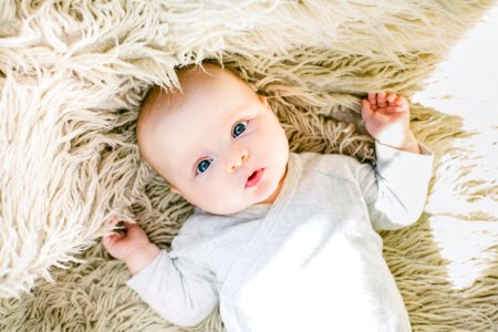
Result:
M375 231L413 224L425 204L433 155L409 129L406 100L362 101L373 168L290 153L267 100L229 70L190 66L178 80L181 91L147 94L137 141L196 209L170 251L132 222L103 238L127 284L179 325L219 304L228 331L409 331Z

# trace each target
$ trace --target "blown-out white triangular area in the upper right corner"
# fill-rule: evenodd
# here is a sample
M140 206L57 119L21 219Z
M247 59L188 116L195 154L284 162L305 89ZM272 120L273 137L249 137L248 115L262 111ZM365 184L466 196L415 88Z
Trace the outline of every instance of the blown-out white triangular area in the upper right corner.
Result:
M452 51L412 101L459 115L466 125L498 125L498 2Z

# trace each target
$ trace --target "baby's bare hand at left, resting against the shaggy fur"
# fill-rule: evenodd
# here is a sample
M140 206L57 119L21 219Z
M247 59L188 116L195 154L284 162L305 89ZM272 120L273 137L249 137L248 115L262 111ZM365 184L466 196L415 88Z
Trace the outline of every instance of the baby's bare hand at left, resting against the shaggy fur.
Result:
M115 227L117 218L110 221ZM124 222L126 229L103 237L102 243L114 258L126 262L132 274L137 273L159 253L159 248L147 238L145 231L137 225Z

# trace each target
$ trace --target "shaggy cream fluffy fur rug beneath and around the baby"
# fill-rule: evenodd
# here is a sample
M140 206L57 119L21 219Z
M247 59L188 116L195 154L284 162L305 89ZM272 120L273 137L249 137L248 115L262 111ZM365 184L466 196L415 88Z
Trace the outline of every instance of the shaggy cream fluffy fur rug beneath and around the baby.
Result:
M100 243L117 214L168 248L191 212L135 145L144 92L177 85L175 66L214 59L240 72L269 97L292 151L374 162L360 98L423 90L491 6L0 1L0 330L179 330L125 286L125 266ZM415 331L498 331L496 127L412 110L436 154L434 178L421 220L382 234L385 258ZM464 286L444 256L452 248L480 248L465 258ZM214 312L193 330L222 329Z

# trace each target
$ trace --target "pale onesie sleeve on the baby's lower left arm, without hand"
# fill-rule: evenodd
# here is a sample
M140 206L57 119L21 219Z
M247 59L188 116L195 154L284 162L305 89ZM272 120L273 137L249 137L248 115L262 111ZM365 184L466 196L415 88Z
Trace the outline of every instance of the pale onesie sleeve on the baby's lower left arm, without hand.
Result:
M181 326L198 324L218 303L212 273L188 258L170 258L166 250L127 286L159 315Z

